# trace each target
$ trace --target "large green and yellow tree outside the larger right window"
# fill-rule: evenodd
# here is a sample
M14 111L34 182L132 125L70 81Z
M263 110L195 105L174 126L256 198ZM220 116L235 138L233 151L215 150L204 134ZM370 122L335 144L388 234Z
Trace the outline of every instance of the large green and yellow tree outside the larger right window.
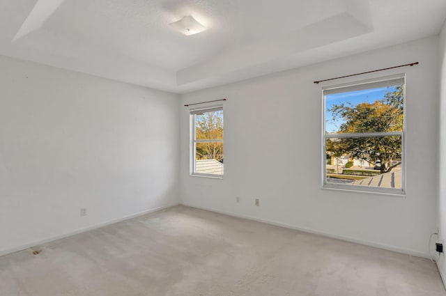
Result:
M382 100L362 102L353 105L333 105L333 120L341 120L339 133L364 132L402 132L403 131L403 88L397 86L393 91L387 91ZM394 159L401 159L401 137L364 137L329 139L327 151L334 155L350 155L374 163L380 160L381 173L391 171L395 166Z

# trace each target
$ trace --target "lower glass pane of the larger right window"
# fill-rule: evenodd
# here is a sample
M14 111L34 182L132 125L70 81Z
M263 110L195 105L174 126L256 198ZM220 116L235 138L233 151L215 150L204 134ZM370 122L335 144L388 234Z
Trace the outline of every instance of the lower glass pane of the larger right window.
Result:
M325 182L401 189L401 136L330 138Z

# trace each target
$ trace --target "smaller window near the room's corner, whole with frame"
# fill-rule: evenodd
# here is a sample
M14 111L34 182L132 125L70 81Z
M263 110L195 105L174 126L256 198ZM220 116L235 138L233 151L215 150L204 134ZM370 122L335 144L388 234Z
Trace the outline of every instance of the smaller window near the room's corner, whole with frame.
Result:
M223 107L190 110L192 175L223 177Z

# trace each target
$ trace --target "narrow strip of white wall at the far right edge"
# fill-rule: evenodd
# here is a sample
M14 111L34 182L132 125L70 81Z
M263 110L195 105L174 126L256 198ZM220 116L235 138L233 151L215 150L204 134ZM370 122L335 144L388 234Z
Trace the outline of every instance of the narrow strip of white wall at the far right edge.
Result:
M440 150L439 150L439 199L438 199L438 228L440 230L440 237L438 242L445 244L446 238L446 23L440 33L439 42L439 72L440 72ZM437 254L437 253L435 253ZM438 270L446 281L446 260L445 256L441 256L437 261Z

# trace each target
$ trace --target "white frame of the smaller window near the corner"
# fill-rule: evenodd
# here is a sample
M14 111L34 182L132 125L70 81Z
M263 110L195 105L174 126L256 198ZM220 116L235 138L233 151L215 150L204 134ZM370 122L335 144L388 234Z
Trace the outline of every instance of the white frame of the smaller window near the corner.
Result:
M195 134L195 116L197 113L210 112L210 111L223 111L223 139L205 139L197 140L197 135ZM213 105L201 108L192 108L189 110L190 116L190 176L206 177L206 178L217 178L222 179L224 176L224 171L222 175L216 175L212 173L196 173L196 153L197 153L197 143L224 143L224 110L223 105ZM224 164L223 164L224 166Z

